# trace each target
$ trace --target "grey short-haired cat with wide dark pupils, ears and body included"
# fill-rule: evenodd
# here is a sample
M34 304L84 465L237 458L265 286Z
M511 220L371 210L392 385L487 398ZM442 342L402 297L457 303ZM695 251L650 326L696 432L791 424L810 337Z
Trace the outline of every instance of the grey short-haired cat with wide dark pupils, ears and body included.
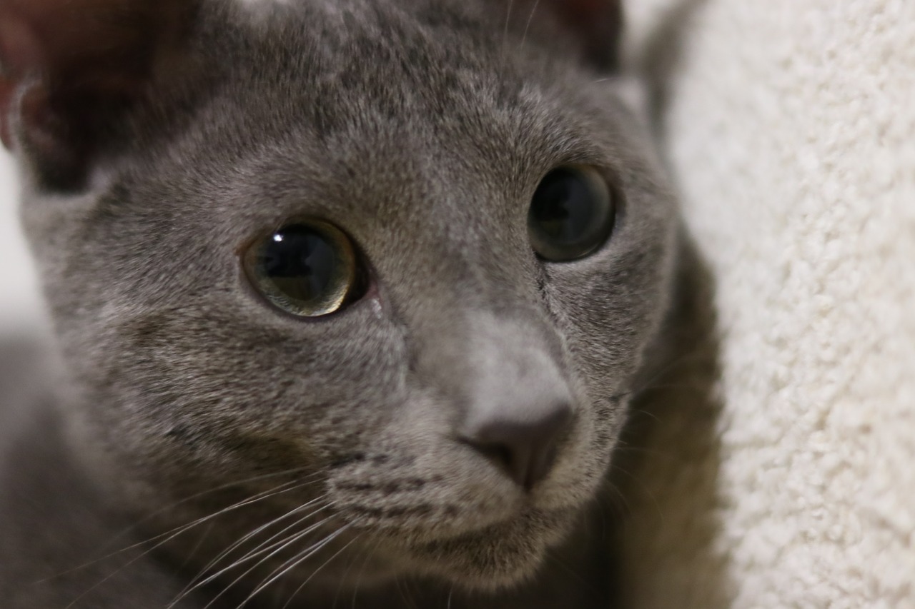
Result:
M688 240L611 0L0 0L6 609L608 607ZM13 381L16 381L15 383Z

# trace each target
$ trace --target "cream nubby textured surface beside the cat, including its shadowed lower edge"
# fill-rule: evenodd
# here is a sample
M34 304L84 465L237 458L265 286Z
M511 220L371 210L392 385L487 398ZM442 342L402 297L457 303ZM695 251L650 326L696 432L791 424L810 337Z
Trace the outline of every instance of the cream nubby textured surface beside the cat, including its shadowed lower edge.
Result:
M661 417L631 606L915 607L915 2L629 8L723 408Z

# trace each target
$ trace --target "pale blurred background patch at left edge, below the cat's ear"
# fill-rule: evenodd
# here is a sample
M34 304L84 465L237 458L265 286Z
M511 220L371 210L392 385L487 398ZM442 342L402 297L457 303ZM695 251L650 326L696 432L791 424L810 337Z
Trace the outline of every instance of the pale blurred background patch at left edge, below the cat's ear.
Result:
M17 206L16 167L0 148L0 335L27 331L44 320L35 266L19 227Z

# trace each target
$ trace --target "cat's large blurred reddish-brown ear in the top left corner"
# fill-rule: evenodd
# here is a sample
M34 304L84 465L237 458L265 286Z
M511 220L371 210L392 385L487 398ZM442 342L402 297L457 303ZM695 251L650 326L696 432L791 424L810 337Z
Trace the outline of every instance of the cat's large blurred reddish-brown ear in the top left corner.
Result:
M0 0L0 138L78 188L124 110L154 85L190 0Z

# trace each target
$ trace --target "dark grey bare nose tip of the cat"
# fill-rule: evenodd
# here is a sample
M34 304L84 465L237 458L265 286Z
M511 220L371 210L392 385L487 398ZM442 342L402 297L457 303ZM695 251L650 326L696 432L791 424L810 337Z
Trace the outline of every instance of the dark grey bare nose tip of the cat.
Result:
M536 416L495 416L468 430L463 440L487 455L518 485L530 490L549 474L556 448L572 422L572 407L557 402Z

